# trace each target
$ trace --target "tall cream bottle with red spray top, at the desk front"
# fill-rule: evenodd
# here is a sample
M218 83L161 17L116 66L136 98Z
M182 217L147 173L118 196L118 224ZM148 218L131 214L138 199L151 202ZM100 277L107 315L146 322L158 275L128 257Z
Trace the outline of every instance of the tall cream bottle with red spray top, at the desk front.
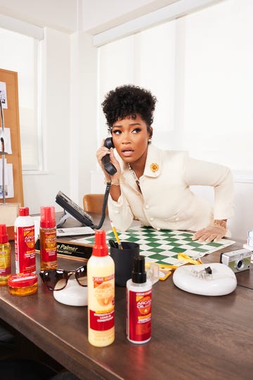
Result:
M95 232L87 263L88 340L93 346L109 346L115 340L115 263L108 255L105 231Z

